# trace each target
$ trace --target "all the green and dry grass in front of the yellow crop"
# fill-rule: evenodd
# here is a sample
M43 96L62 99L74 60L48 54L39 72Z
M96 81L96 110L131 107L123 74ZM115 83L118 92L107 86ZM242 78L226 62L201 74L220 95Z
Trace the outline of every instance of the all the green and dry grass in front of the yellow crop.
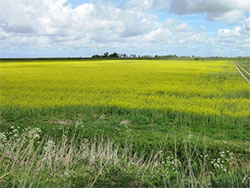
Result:
M249 185L247 124L212 126L198 117L186 124L185 116L108 107L66 109L2 112L0 187Z

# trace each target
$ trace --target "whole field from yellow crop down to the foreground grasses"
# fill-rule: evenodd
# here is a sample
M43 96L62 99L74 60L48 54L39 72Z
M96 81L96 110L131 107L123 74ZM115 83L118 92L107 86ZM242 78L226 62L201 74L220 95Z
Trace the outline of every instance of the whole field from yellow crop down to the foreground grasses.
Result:
M0 187L249 185L233 61L2 61L0 76Z

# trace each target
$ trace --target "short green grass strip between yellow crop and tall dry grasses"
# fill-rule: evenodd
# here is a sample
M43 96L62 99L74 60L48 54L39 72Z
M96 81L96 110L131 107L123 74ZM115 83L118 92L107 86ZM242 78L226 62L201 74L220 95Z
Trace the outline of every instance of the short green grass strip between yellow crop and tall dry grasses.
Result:
M213 150L220 149L220 143L227 142L230 150L249 157L249 120L223 119L224 124L216 124L218 117L191 116L177 113L169 116L164 111L121 109L117 107L67 107L55 109L5 108L1 112L0 130L9 132L10 127L38 127L44 134L61 137L61 129L73 132L73 124L81 122L87 131L81 136L91 139L95 136L112 138L120 144L134 143L137 150L150 153L155 148L172 147L175 139L192 134ZM219 143L219 145L217 144ZM203 144L199 144L203 148Z

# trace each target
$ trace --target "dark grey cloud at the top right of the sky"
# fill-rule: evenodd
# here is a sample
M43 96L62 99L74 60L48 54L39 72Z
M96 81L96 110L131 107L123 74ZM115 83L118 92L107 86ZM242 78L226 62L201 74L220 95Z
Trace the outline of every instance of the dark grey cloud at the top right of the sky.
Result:
M245 12L250 12L250 0L161 0L162 8L157 2L154 0L152 8L179 15L201 13L210 20L230 24L241 22Z

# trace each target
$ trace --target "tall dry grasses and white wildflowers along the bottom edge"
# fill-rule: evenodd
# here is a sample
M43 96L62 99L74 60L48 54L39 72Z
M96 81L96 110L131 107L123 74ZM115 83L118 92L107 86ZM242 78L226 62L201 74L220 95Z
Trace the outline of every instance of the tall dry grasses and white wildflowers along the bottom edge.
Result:
M229 150L198 151L197 138L182 137L173 151L150 154L103 137L42 135L39 128L0 133L1 187L248 187L247 161ZM204 143L203 143L204 144ZM179 146L184 149L183 155Z

